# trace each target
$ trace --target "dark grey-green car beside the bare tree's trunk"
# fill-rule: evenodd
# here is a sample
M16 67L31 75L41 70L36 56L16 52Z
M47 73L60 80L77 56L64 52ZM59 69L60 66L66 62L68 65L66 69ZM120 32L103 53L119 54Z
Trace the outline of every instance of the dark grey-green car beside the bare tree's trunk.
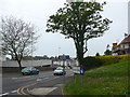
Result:
M39 70L36 69L35 67L26 67L24 69L22 69L22 74L38 74Z

